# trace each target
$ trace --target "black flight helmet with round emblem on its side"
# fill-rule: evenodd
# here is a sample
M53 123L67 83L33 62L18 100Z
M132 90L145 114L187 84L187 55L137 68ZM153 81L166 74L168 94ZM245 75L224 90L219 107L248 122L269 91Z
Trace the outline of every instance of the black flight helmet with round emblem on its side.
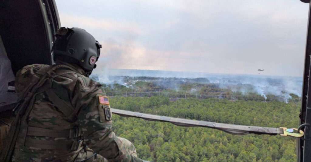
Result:
M52 47L54 61L60 60L79 65L86 75L96 68L95 62L100 55L101 45L95 38L81 28L61 27L55 34Z

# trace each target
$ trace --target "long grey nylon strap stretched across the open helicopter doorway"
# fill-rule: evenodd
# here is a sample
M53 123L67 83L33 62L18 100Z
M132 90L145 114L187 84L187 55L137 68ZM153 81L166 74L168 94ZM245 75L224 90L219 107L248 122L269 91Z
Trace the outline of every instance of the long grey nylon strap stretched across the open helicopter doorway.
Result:
M225 131L227 133L235 134L235 135L245 135L249 133L254 134L269 134L269 135L277 135L283 134L283 129L281 128L270 128L270 127L256 127L256 126L245 126L245 125L235 125L235 124L223 124L223 123L215 123L208 121L199 121L199 120L191 120L191 119L180 119L180 118L172 118L167 116L160 115L151 115L144 114L139 112L132 112L126 110L119 110L110 108L111 112L123 117L135 117L142 118L151 121L161 121L161 122L170 122L172 124L184 127L207 127L214 128Z

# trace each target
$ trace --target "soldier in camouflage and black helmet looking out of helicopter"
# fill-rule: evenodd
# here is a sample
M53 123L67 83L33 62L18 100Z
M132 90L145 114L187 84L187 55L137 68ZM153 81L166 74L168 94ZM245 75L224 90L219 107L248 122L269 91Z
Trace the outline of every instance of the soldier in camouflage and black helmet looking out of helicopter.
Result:
M142 162L133 144L111 130L104 88L88 78L100 43L80 28L62 27L55 36L55 65L28 65L16 74L18 121L4 156L18 162Z

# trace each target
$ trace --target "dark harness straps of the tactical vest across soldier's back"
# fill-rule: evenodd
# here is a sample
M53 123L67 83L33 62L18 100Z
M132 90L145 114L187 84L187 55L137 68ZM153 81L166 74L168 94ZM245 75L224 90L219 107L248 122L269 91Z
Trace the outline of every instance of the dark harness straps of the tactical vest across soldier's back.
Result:
M54 72L55 70L65 67L70 70L58 70L57 74ZM31 71L33 75L33 80L30 85L25 88L22 94L19 96L19 100L17 105L13 109L15 114L15 118L11 124L8 136L7 136L7 145L5 149L2 150L0 155L0 161L2 162L10 162L13 154L14 147L16 143L22 144L26 147L35 147L40 149L52 149L52 150L72 150L74 152L79 152L82 149L85 149L87 153L86 162L93 161L91 158L94 154L91 149L83 146L83 140L77 137L81 136L80 128L70 128L64 130L52 130L45 129L39 127L31 127L27 123L28 116L32 110L35 96L37 94L46 92L49 97L49 100L54 103L54 105L60 110L64 115L68 117L68 119L72 122L77 120L77 115L74 107L72 105L66 104L62 99L60 99L52 90L52 80L58 76L70 73L78 73L72 67L67 65L45 65L38 71ZM72 140L68 140L68 142L58 142L58 141L44 141L39 139L32 139L27 136L45 136L45 137L66 137L69 139L75 139L74 142ZM64 157L66 159L67 157ZM61 159L61 158L60 158ZM68 159L67 159L68 160ZM74 159L70 159L68 161L73 161ZM63 160L65 161L65 160Z

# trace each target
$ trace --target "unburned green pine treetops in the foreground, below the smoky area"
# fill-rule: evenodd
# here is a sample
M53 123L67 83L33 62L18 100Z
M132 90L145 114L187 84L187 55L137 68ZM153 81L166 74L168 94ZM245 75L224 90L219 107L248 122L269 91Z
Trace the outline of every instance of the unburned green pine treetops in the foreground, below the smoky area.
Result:
M110 97L112 108L179 118L265 127L297 128L300 102L167 96ZM154 162L293 162L293 137L231 135L216 129L179 127L113 115L114 131Z

